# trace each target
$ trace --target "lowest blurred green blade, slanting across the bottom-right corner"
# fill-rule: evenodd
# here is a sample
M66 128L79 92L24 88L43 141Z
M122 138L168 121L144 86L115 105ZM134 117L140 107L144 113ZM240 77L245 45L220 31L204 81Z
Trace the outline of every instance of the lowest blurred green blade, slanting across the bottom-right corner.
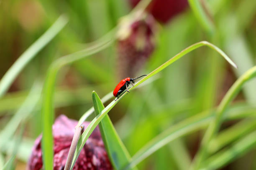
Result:
M237 141L230 148L220 151L208 158L200 170L216 170L227 165L232 160L241 157L248 151L256 148L256 131L246 135L243 139Z

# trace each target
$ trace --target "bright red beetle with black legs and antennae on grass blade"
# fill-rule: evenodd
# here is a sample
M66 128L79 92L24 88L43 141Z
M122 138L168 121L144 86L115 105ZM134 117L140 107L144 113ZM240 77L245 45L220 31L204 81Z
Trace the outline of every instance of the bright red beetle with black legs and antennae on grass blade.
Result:
M146 75L142 75L142 76L140 76L140 77L143 77L143 76L146 76ZM113 95L114 95L115 97L118 97L118 98L119 98L119 95L120 95L125 89L129 92L128 86L130 85L130 83L131 83L131 85L133 85L134 80L136 80L136 79L138 79L138 78L140 78L140 77L135 77L135 78L127 77L127 78L121 80L121 81L118 83L118 85L115 87L115 89L114 89L114 91L113 91ZM133 86L134 86L134 85L133 85Z

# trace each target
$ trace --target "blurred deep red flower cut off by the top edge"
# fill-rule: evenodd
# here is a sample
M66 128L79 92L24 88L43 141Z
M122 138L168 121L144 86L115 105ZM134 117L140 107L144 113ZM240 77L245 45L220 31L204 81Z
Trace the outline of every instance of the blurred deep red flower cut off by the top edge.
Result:
M132 7L135 7L139 1L129 0ZM182 12L187 5L187 0L152 0L147 11L159 22L167 23L172 17Z

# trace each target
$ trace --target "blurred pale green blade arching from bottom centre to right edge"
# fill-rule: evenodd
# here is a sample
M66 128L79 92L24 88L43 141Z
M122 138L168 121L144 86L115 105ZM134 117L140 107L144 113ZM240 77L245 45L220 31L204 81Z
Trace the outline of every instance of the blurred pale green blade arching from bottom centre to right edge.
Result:
M239 107L230 108L227 111L227 115L225 119L233 119L234 112L236 112L236 116L241 118L240 116L246 117L248 115L244 114L247 110L251 111L251 109L255 109L254 107L243 107L241 110ZM204 128L214 119L214 113L216 111L212 111L213 114L207 115L206 112L202 112L193 117L190 117L186 120L183 120L175 125L172 125L170 128L157 135L154 139L149 141L146 145L143 146L135 155L133 155L131 162L127 167L133 167L140 163L142 160L147 158L149 155L153 154L159 148L162 148L167 143L180 138L189 133L195 132L196 130ZM255 114L256 112L254 112Z

